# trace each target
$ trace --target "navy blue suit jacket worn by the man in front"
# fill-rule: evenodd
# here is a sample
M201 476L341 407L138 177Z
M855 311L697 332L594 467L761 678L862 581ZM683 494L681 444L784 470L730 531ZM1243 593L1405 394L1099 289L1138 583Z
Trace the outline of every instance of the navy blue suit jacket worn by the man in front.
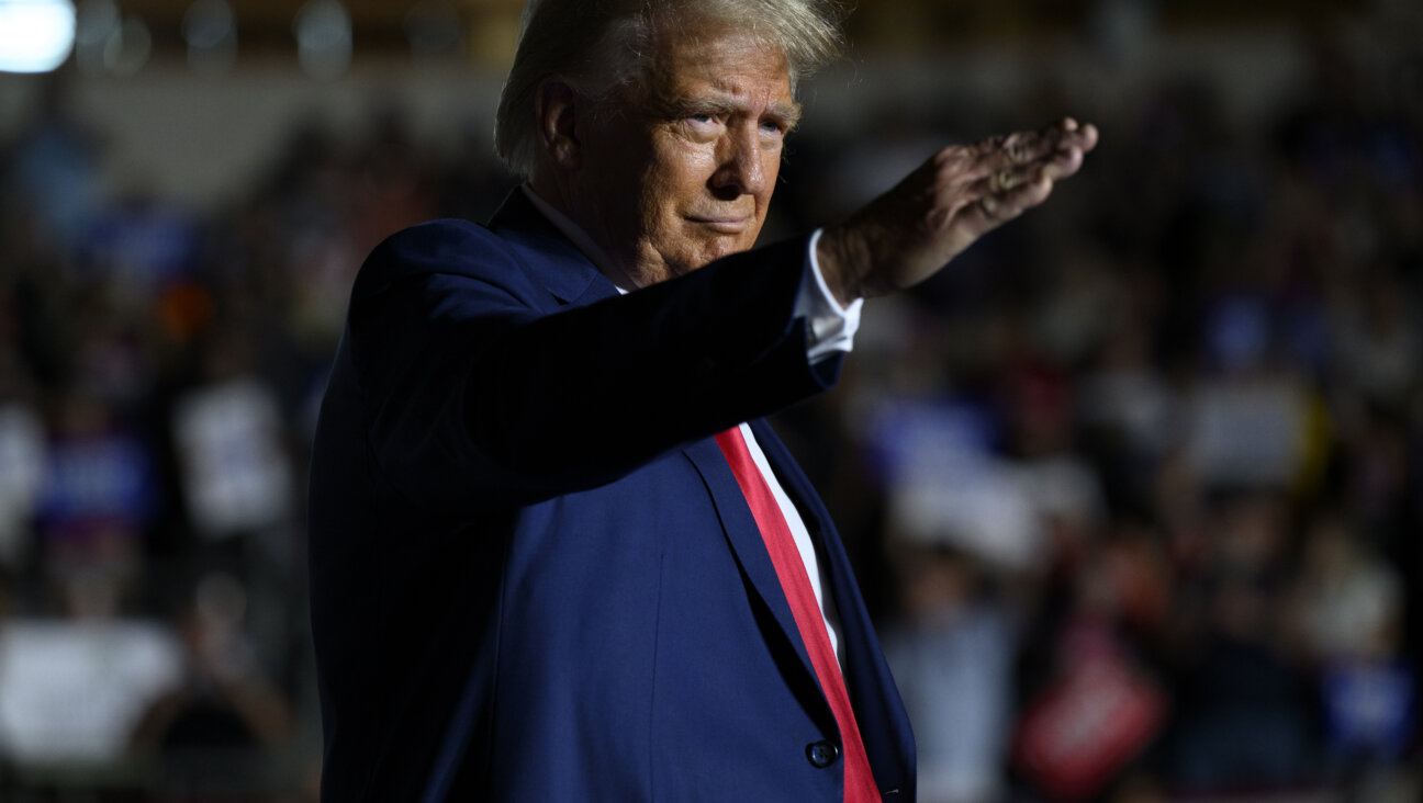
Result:
M710 435L824 389L804 239L618 296L515 192L356 280L312 459L323 800L841 800L830 705ZM830 519L817 541L875 780L908 719Z

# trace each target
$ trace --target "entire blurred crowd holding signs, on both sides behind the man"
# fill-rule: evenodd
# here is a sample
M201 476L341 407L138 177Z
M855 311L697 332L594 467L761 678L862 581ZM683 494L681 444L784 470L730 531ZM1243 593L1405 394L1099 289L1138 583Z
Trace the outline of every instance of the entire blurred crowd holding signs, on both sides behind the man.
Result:
M793 136L768 236L938 144L1103 132L777 416L926 803L1417 790L1423 50L1311 53L1244 119L1205 80L1049 82ZM0 141L0 790L306 800L306 453L350 281L512 179L383 108L357 142L293 125L218 209L107 196L100 132L46 98Z

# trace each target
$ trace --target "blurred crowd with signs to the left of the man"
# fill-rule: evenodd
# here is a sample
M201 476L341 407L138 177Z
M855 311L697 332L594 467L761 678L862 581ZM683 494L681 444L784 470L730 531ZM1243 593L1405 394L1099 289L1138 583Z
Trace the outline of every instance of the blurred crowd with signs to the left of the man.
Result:
M350 283L512 179L387 108L293 125L216 210L104 198L51 81L0 149L0 789L307 799L306 456Z

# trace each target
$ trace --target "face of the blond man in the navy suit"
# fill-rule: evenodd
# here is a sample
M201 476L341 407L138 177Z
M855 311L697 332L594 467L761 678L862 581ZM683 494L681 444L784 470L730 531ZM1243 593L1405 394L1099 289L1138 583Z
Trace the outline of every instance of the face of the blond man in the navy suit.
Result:
M655 65L586 129L573 205L643 287L751 247L800 114L785 57L744 34L656 37Z

